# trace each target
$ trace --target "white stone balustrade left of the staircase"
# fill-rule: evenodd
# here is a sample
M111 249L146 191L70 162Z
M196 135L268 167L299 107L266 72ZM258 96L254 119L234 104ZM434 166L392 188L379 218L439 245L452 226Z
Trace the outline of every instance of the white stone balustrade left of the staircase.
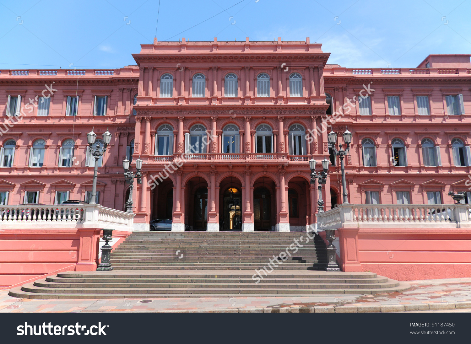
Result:
M113 228L132 231L134 214L103 207L81 205L1 205L1 229Z

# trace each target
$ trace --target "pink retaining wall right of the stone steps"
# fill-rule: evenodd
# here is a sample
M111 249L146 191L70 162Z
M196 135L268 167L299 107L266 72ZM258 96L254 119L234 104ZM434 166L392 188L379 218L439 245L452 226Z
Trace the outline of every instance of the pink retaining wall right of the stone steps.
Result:
M471 277L466 229L341 228L342 271L371 271L395 280Z

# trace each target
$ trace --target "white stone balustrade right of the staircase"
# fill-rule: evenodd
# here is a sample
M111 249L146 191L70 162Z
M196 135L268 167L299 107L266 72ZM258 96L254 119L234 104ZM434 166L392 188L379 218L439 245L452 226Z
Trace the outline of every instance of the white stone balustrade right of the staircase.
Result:
M317 214L317 228L341 227L471 228L468 204L340 204Z

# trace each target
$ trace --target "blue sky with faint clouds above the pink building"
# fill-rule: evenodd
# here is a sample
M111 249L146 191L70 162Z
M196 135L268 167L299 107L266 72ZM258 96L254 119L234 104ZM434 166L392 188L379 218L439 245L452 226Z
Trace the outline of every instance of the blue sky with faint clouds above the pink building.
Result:
M471 0L0 0L0 69L136 64L156 29L158 40L310 37L331 64L415 67L471 53L470 11Z

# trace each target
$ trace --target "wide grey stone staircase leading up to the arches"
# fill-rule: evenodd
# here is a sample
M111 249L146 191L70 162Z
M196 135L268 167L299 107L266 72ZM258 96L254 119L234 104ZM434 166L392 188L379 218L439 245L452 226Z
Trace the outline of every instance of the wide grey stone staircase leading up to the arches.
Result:
M113 271L62 272L11 289L9 295L31 299L315 296L410 287L372 272L325 272L324 241L316 236L306 243L306 238L301 232L134 232L114 249ZM295 253L293 240L302 245ZM292 256L282 264L278 258L278 267L268 267L269 259L282 251Z

